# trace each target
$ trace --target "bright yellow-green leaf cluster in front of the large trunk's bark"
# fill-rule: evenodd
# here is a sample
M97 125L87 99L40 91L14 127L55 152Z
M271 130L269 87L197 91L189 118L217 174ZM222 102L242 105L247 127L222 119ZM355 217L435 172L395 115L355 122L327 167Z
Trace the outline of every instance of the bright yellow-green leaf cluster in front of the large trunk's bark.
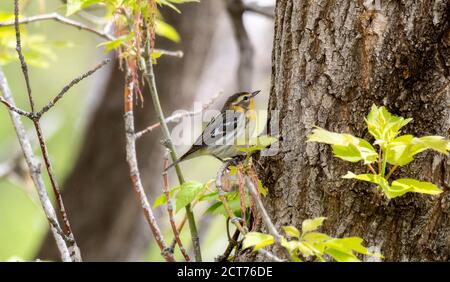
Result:
M357 179L376 184L389 199L399 197L408 192L436 195L442 190L431 182L411 178L396 179L389 183L392 173L398 168L411 163L414 157L425 151L434 150L448 155L450 142L442 136L415 137L401 135L400 130L412 121L388 112L385 107L372 106L365 118L369 133L375 141L368 141L352 136L315 128L308 136L308 142L319 142L331 145L336 157L349 161L362 161L371 173L355 174L348 172L343 178ZM378 146L377 152L374 146ZM375 171L374 166L378 168ZM389 171L388 165L390 165Z

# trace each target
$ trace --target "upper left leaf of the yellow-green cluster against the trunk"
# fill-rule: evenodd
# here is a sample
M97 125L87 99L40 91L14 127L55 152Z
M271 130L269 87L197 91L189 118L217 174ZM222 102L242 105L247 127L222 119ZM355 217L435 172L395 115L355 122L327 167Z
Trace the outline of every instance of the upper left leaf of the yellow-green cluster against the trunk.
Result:
M313 133L308 136L307 142L330 144L336 157L349 162L363 160L364 164L370 164L378 158L378 153L369 142L350 134L339 134L315 128Z

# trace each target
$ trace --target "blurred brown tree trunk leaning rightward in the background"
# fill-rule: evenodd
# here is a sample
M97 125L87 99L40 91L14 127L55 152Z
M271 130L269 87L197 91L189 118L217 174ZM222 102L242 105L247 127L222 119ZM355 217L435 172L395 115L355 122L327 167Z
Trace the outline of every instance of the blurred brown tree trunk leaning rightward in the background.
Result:
M159 40L158 47L179 48L185 53L183 59L163 57L155 67L161 103L167 114L190 106L194 100L195 78L202 71L219 7L216 1L203 1L183 5L182 14L165 14L165 19L181 34L182 42ZM115 66L90 117L79 158L64 185L64 202L84 261L141 260L150 240L125 159L123 88L124 74ZM137 130L156 122L148 93L144 93L144 98L144 107L136 107ZM137 144L144 186L153 194L161 192L160 139L155 131ZM58 259L52 238L46 238L38 257Z

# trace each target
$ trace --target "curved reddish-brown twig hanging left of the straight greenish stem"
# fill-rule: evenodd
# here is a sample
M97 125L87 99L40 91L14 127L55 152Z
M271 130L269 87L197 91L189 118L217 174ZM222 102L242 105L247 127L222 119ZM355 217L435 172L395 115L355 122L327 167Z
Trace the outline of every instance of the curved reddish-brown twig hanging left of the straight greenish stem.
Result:
M175 258L167 248L167 245L164 241L164 237L161 233L161 229L159 228L158 223L156 222L148 198L145 195L144 186L142 185L141 176L139 173L136 155L136 133L134 129L134 113L133 113L134 85L132 80L130 79L130 70L128 64L127 64L127 72L128 72L127 81L124 93L124 104L125 104L124 120L125 120L125 134L126 134L126 154L128 166L130 169L131 182L133 183L136 195L138 196L139 201L141 203L142 210L144 212L144 217L147 220L147 223L150 227L153 237L155 238L156 243L158 244L161 250L161 255L166 261L174 262Z

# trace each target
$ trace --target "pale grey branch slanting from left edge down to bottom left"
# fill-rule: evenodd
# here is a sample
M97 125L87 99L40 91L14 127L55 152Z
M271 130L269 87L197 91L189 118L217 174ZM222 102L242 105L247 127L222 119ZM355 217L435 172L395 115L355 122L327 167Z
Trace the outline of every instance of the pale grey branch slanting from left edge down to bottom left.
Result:
M0 91L3 96L0 96L8 104L14 105L14 100L11 94L6 77L3 74L3 70L0 68ZM50 231L56 242L56 247L59 251L61 260L64 262L72 261L70 257L69 249L67 248L64 237L59 233L61 230L56 212L52 206L52 202L47 194L47 189L45 188L44 180L41 174L41 164L36 160L33 148L31 146L30 140L27 137L25 126L23 125L20 116L15 111L9 111L14 130L16 131L17 138L19 140L20 147L22 148L23 156L28 166L31 179L33 180L34 186L39 196L39 200L42 205L42 209L47 217L50 225Z

